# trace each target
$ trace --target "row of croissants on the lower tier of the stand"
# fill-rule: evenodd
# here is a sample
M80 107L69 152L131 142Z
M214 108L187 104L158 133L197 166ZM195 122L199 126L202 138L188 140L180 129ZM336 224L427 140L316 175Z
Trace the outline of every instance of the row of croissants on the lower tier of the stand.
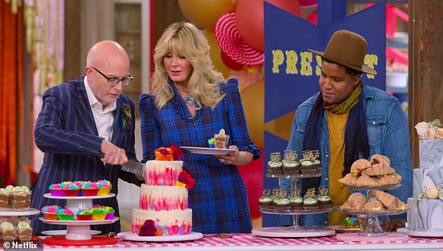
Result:
M380 210L405 210L407 205L400 201L397 197L388 194L387 192L372 190L372 199L368 200L365 194L356 192L349 196L349 199L340 207L346 210L365 210L365 211L380 211Z

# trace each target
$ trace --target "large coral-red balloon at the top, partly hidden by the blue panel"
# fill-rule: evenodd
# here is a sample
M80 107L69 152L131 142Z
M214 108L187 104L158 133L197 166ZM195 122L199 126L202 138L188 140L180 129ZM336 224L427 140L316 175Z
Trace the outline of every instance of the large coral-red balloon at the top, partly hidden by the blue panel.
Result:
M264 51L264 0L241 0L235 9L235 24L240 37L256 50ZM293 0L266 0L298 17L302 16L300 3Z

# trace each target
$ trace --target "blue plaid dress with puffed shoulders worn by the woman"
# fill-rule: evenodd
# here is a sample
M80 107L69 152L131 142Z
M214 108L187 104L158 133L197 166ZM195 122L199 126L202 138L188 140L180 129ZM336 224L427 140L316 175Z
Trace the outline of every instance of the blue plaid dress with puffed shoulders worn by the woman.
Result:
M154 150L171 143L208 148L208 139L222 128L230 135L228 145L236 145L238 150L251 152L258 159L261 150L249 137L238 80L227 80L222 90L226 96L213 110L203 107L196 110L194 117L176 91L161 110L155 108L153 95L141 95L143 162L155 159ZM237 167L222 164L212 155L187 151L183 162L196 179L194 188L189 189L192 230L203 234L250 233L247 191Z

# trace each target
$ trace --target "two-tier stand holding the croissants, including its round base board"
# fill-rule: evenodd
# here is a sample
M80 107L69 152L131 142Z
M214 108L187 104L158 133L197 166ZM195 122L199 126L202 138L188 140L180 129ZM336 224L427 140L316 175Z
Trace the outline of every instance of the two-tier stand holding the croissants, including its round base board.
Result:
M357 190L368 190L368 201L373 198L372 190L393 190L400 187L401 184L391 185L386 187L355 187L347 185L349 189ZM377 238L379 241L406 241L409 236L405 234L397 233L386 233L379 224L378 215L400 215L405 213L405 210L381 210L381 211L370 211L370 210L353 210L353 209L342 209L340 206L334 208L342 213L348 213L352 215L365 215L365 226L358 233L349 234L337 234L337 239L341 241L372 241Z

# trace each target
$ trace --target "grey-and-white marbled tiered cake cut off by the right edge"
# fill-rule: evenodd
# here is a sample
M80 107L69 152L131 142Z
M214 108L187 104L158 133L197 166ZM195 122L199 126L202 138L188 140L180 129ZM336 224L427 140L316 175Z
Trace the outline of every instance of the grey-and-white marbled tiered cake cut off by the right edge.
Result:
M414 198L407 200L407 230L443 233L443 140L421 140L414 169ZM426 199L425 194L430 198Z

